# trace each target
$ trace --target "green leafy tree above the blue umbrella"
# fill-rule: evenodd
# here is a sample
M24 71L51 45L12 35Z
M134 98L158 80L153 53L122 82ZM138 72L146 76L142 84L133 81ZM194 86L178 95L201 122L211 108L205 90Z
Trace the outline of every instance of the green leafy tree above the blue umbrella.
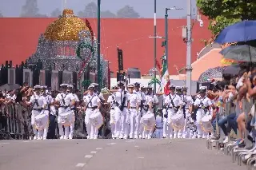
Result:
M197 6L210 19L209 29L214 36L226 26L256 19L255 0L197 0Z

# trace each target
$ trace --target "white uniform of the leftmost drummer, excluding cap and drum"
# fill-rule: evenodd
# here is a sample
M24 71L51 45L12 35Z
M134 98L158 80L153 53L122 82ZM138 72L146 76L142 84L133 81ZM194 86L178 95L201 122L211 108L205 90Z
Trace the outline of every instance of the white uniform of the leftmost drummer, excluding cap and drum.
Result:
M31 125L33 127L33 132L34 132L34 140L41 139L42 138L41 132L39 131L39 133L38 133L36 126L35 126L35 117L41 113L42 114L44 113L43 112L44 110L39 111L39 109L42 109L42 106L47 104L46 98L41 95L34 94L32 97L30 97L29 102L32 104ZM46 134L44 134L44 135L46 135ZM44 136L44 137L46 137L46 136Z

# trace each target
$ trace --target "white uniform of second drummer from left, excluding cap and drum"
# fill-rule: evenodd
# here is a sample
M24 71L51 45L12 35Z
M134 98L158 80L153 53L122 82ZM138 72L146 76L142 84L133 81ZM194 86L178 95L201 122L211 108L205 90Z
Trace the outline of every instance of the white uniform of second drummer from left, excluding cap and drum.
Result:
M74 101L74 96L71 93L58 93L58 95L55 98L55 101L58 101L60 104L58 108L58 115L59 115L60 113L70 112L70 104L71 104L71 101ZM67 108L65 109L65 107ZM70 127L70 128L73 128L73 127ZM62 128L62 124L60 122L59 116L58 116L58 129L59 129L59 134L61 135L60 139L63 139L63 138L68 139L69 127L65 127L65 136L64 136L64 132L63 132L63 128Z

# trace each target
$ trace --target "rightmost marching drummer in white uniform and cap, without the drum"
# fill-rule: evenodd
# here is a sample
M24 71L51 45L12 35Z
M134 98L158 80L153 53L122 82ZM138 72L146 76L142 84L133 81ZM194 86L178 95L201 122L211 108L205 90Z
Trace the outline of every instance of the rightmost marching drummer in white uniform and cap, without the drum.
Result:
M206 138L206 133L202 132L202 126L201 121L202 117L204 117L206 114L210 112L212 102L208 97L206 97L206 86L200 87L200 97L198 97L194 101L194 108L196 112L196 126L197 126L197 132L198 132L198 138ZM203 134L202 134L203 133Z

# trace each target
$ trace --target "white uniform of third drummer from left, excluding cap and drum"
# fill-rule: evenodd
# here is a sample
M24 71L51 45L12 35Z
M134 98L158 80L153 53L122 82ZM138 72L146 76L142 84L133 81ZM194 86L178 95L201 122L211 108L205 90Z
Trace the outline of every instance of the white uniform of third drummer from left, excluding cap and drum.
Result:
M97 139L98 138L98 128L94 127L90 122L90 116L96 112L99 112L98 103L101 102L99 97L94 93L90 95L88 93L86 96L83 97L83 101L86 103L86 131L87 131L87 139Z

